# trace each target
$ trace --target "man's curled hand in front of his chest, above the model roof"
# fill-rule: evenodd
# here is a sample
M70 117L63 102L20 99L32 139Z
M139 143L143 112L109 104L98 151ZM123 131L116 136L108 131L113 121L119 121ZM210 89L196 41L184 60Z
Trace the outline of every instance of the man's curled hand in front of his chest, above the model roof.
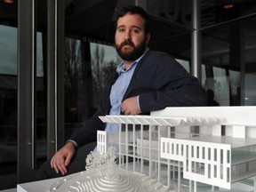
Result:
M124 115L140 114L140 109L137 102L137 96L124 100L124 102L122 102L121 104L121 111L124 112Z

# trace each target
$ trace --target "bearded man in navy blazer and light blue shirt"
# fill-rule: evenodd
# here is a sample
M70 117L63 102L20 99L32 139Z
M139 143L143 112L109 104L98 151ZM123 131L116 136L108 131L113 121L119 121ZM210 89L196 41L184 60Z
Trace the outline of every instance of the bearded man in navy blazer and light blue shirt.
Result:
M98 108L83 128L52 156L51 167L44 164L41 179L83 171L85 157L73 156L76 148L96 140L97 130L116 131L99 116L149 114L178 106L206 105L204 89L169 54L147 48L150 39L148 14L138 6L124 7L116 20L116 52L123 59L110 77ZM72 160L73 159L73 160Z

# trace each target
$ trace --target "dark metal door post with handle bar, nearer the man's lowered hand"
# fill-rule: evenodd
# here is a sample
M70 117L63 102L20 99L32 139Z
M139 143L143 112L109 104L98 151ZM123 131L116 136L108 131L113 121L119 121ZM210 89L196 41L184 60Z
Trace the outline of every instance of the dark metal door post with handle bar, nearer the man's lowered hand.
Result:
M64 6L47 1L47 157L64 143Z

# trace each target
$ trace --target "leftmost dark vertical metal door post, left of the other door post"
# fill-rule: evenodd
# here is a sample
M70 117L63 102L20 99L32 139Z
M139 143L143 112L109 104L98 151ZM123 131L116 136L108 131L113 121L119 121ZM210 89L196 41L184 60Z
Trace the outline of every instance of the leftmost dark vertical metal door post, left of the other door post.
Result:
M18 183L35 178L36 0L18 2ZM29 178L30 177L30 178Z

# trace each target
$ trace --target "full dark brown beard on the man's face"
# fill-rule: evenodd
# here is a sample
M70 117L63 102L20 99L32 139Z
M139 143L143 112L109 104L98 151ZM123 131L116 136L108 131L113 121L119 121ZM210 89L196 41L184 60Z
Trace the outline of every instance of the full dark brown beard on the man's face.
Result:
M132 51L130 52L124 52L122 51L122 48L124 45L130 45L132 46ZM138 58L140 58L140 56L145 52L146 50L146 46L147 46L147 41L146 38L137 46L135 46L132 41L128 40L128 41L124 41L122 44L118 45L115 44L116 46L116 52L118 53L118 55L123 59L123 60L137 60Z

